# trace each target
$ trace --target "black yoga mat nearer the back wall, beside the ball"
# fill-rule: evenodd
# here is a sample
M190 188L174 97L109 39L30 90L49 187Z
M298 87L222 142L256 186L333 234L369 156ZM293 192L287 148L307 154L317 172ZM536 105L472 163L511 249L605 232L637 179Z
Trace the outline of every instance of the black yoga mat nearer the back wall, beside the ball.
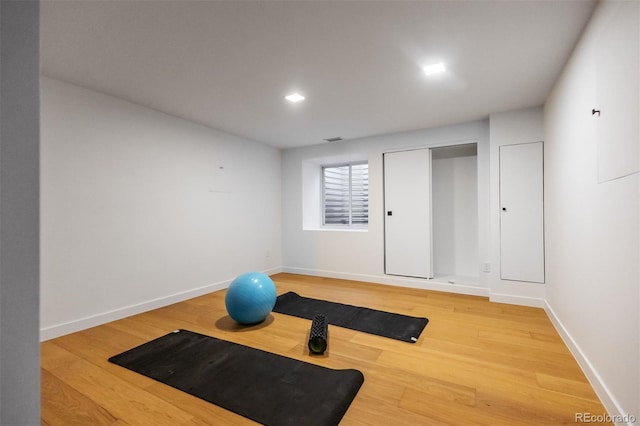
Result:
M418 340L429 322L427 318L302 297L292 291L278 296L273 311L310 320L322 314L329 324L338 327L411 343Z

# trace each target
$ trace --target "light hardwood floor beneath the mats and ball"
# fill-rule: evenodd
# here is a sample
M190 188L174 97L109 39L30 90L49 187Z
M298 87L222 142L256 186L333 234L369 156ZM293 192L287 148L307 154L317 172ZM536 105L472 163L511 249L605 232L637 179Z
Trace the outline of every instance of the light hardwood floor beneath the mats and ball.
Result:
M254 424L107 361L178 328L362 371L365 382L343 425L555 425L575 423L576 413L606 413L542 309L355 281L272 278L278 294L426 316L429 324L415 344L330 326L328 351L310 356L309 320L272 313L240 327L227 316L225 291L207 294L42 343L42 424Z

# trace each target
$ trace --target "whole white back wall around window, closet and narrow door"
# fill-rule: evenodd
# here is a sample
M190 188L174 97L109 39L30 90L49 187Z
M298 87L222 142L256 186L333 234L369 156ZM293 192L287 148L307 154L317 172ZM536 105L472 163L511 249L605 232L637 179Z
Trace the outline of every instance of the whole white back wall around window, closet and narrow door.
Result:
M544 140L542 107L491 114L488 121L463 123L393 135L323 144L283 152L283 269L310 275L482 294L491 300L544 306L545 285L500 279L499 148ZM477 285L440 284L384 274L382 153L404 148L478 142ZM306 209L319 210L319 182L312 169L322 159L369 161L369 228L366 232L319 229L319 215L309 219ZM307 185L305 187L305 185ZM314 210L315 209L315 210ZM315 224L315 225L314 225ZM481 264L489 263L490 272Z

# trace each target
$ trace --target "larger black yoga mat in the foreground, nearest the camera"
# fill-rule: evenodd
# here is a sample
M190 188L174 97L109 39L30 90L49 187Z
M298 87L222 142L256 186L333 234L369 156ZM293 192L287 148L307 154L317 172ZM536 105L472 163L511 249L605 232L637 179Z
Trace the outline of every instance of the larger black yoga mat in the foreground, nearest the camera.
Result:
M187 330L109 361L265 425L337 425L364 376Z

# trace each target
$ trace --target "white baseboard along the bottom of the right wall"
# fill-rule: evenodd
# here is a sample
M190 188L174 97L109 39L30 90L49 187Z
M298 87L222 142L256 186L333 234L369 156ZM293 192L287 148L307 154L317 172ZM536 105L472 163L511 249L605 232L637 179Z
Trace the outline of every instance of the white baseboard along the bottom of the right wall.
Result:
M551 307L551 305L549 305L549 302L547 301L545 301L544 310L547 312L549 319L551 320L551 322L553 323L553 326L558 331L558 334L560 334L560 337L564 341L565 345L567 345L567 348L569 348L569 351L578 362L578 365L580 365L580 368L582 369L583 373L585 374L585 376L587 376L587 380L589 380L589 383L591 383L591 386L596 392L596 395L598 395L598 398L600 398L600 401L602 402L602 405L604 405L604 408L607 410L608 414L610 416L624 418L625 413L622 410L622 407L620 406L618 401L614 398L613 394L607 387L606 383L604 382L604 380L602 380L602 377L600 376L600 374L598 374L593 364L591 364L591 362L587 358L586 354L582 351L582 349L580 349L580 346L576 343L573 337L571 337L571 334L569 334L567 329L562 324L562 321L560 321L560 319L554 312L553 308ZM603 413L593 413L593 414L603 414ZM616 423L616 424L621 424L621 425L628 424L629 426L631 426L631 423Z

